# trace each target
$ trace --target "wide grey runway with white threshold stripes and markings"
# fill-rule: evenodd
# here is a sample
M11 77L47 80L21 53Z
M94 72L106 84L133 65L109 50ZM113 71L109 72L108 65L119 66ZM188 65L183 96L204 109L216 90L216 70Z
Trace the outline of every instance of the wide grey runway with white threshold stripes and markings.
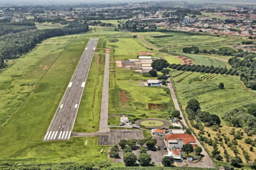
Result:
M98 38L90 39L85 47L43 141L69 140L97 42Z

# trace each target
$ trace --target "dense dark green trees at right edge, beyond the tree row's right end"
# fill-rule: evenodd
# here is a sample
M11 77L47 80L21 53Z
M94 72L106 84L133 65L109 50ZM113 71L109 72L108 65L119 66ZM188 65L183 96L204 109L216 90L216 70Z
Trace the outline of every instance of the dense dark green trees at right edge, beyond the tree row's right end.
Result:
M252 90L256 90L256 61L246 56L244 60L240 58L230 58L229 64L234 70L240 72L241 81L243 81L246 87L251 87Z

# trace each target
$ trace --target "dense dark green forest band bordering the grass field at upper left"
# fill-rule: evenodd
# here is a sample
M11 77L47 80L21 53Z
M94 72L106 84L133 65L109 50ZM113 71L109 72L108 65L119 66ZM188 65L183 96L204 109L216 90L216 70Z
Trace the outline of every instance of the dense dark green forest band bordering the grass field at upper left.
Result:
M88 31L87 24L74 23L63 29L26 30L10 33L0 37L0 68L5 67L5 59L15 59L34 47L44 39L54 36L71 35Z

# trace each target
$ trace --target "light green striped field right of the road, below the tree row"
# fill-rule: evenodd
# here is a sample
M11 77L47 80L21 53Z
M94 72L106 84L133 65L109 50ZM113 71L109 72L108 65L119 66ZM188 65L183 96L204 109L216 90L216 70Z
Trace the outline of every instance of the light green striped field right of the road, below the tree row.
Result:
M181 75L179 73L182 73L182 71L171 69L172 75L178 75L173 78L174 82L181 80L192 72L184 72ZM255 95L247 92L241 86L240 77L218 75L212 80L194 81L194 78L200 78L206 74L194 72L180 83L175 83L176 93L183 107L187 105L191 98L196 98L202 110L221 117L221 114L227 112L227 110L256 103ZM218 89L219 83L224 83L224 89Z

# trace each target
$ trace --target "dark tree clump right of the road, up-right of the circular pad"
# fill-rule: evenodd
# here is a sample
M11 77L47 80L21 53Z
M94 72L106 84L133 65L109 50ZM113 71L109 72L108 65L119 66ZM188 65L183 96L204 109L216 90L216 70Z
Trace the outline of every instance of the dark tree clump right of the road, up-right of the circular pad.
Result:
M188 105L186 107L186 112L189 120L195 120L199 118L205 126L213 126L214 124L221 124L221 120L218 115L210 114L209 112L203 112L200 110L200 104L196 99L191 99L188 101Z

